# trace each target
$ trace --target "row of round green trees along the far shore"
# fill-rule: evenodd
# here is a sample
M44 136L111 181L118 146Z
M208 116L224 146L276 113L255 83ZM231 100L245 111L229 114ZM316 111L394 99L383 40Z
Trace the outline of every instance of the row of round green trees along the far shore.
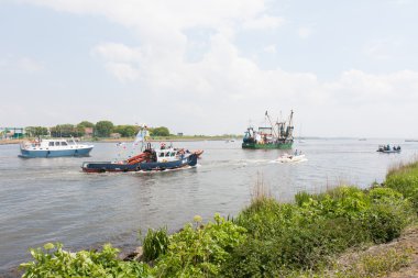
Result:
M96 124L82 121L78 124L57 124L52 127L26 126L25 133L30 137L51 135L52 137L81 137L91 135L95 137L109 137L112 133L119 133L122 137L133 137L139 132L138 125L114 125L111 121L99 121ZM91 132L91 133L90 133ZM148 127L151 136L169 136L169 130L165 126Z

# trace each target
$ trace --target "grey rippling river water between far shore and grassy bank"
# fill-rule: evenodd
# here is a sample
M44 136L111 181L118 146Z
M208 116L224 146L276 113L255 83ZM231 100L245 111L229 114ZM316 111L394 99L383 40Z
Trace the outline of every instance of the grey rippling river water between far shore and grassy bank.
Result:
M399 144L402 154L376 153ZM129 144L127 144L129 146ZM241 142L177 142L205 149L196 168L156 174L85 174L85 160L130 155L114 143L95 143L91 157L18 157L19 145L0 145L0 274L30 259L29 247L62 242L73 251L110 242L138 244L138 231L173 232L199 214L235 215L250 203L257 179L282 201L296 192L336 185L367 187L383 181L389 166L416 157L418 143L400 140L307 140L294 144L307 162L274 162L283 151L244 151Z

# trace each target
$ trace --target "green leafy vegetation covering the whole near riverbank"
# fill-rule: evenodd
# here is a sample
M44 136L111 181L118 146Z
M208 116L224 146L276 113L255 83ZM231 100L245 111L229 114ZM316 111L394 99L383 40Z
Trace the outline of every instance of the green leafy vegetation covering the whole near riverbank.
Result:
M410 251L375 244L398 238L417 219L418 164L391 169L367 190L343 186L320 194L299 192L279 203L258 182L235 219L196 216L178 233L150 230L139 260L118 251L68 253L61 245L33 249L24 277L380 277L410 263ZM343 254L361 254L342 264Z

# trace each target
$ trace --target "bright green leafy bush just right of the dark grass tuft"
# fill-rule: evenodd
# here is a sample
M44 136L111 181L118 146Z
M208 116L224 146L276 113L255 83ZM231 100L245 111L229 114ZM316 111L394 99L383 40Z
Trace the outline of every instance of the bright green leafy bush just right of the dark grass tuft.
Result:
M215 222L201 225L200 216L195 222L169 236L167 253L154 267L157 277L217 277L232 249L246 238L245 229L218 213Z

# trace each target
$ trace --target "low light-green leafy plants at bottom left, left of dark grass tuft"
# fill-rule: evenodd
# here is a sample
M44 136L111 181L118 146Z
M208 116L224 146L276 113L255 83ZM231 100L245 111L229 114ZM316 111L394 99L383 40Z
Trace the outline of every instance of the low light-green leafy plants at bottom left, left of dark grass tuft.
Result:
M44 249L31 249L33 262L22 264L23 278L55 277L148 277L148 266L139 262L117 258L119 249L105 245L101 252L80 251L70 253L61 244L44 245Z

